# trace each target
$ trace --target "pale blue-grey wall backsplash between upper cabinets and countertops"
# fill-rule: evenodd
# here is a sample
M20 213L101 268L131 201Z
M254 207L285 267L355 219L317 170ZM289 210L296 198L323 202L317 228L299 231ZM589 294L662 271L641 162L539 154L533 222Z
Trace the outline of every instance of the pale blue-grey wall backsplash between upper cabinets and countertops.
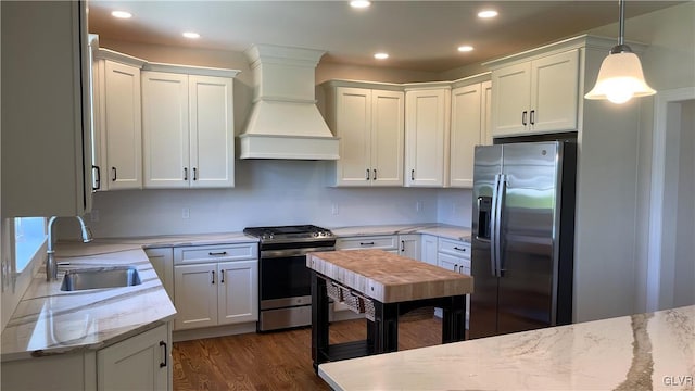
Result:
M237 161L233 189L100 192L93 204L99 220L92 218L89 225L100 238L226 232L287 224L470 225L469 190L330 188L326 184L331 164ZM185 209L188 218L182 217Z

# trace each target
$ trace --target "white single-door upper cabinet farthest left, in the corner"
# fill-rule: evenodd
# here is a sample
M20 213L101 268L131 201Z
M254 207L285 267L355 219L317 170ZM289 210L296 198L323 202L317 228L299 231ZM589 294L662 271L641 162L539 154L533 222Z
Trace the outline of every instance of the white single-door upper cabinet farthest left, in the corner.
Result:
M94 51L94 190L142 188L140 68L143 60Z

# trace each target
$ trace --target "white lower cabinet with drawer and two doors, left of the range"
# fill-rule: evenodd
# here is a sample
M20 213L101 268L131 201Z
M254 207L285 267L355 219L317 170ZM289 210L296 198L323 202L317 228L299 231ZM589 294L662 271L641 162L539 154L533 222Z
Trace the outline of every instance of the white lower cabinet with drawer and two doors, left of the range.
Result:
M174 249L176 330L258 319L256 243Z

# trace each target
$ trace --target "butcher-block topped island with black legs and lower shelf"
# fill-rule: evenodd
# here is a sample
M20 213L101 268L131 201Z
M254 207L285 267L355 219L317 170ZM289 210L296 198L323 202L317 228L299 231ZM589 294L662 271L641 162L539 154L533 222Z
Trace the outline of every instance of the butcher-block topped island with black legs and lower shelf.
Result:
M327 361L394 352L399 316L422 306L443 310L442 343L465 335L466 294L472 277L381 250L309 253L312 269L312 358ZM349 303L367 318L366 341L328 343L328 297Z

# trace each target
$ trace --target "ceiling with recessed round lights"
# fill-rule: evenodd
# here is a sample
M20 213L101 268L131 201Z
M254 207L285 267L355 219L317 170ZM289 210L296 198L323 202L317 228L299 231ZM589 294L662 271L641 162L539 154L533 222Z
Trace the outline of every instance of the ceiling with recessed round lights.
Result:
M683 1L628 1L627 17ZM494 8L495 20L477 12ZM110 16L126 10L130 20ZM243 51L252 43L326 50L323 62L443 72L618 21L618 1L89 1L89 30L147 43ZM194 30L201 38L182 38ZM618 31L614 36L617 36ZM626 26L630 39L630 24ZM459 53L460 45L476 50ZM378 62L377 51L390 59Z

